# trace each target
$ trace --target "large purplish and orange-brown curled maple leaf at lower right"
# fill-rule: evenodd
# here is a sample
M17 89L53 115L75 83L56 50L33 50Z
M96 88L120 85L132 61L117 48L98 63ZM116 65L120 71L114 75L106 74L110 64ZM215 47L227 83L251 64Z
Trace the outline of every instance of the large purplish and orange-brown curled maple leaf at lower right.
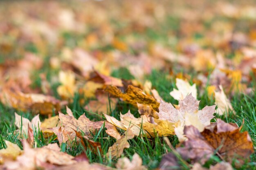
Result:
M248 132L240 133L240 129L217 119L215 124L205 127L200 132L194 126L185 126L184 135L187 140L183 142L184 147L177 148L177 152L184 159L190 159L193 163L204 163L215 152L229 163L237 159L243 163L253 152L251 138Z

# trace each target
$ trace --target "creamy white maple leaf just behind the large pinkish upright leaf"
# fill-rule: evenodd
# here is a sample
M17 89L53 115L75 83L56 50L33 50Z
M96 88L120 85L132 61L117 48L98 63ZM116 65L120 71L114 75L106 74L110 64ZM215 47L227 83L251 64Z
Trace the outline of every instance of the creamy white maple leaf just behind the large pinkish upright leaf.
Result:
M183 79L176 78L176 86L178 90L173 89L173 91L170 92L170 95L174 99L184 99L189 94L192 94L192 96L195 97L195 99L197 98L197 89L195 84L191 86L189 82L186 82Z

